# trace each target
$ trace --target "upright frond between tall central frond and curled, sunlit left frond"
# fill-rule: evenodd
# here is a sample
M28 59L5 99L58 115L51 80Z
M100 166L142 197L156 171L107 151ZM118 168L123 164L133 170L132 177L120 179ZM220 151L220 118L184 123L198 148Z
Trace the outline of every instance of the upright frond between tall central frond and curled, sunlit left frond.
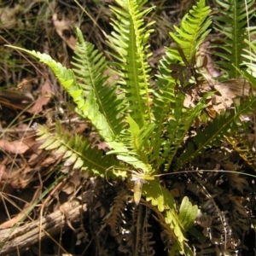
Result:
M108 76L104 72L108 70L107 61L102 53L99 53L93 44L84 41L82 32L77 28L78 43L76 44L75 56L73 57L73 72L75 73L79 87L87 96L90 90L95 91L96 103L99 111L107 119L108 125L114 135L124 129L122 122L125 111L123 101L117 97L117 87L107 84ZM119 98L121 95L119 95Z

